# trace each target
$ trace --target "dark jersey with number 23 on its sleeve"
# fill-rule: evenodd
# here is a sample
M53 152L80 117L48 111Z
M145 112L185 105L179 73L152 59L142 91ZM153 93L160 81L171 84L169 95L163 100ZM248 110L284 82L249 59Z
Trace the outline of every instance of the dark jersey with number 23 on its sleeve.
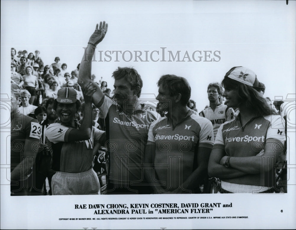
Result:
M25 116L21 113L15 113L12 117L11 123L11 151L10 151L10 164L11 172L15 167L20 164L22 161L22 156L31 156L34 157L34 151L37 151L41 138L41 126L38 123L38 120L31 117ZM30 149L27 149L24 152L25 142L30 142ZM26 172L25 175L22 175L21 180L27 178L30 172Z

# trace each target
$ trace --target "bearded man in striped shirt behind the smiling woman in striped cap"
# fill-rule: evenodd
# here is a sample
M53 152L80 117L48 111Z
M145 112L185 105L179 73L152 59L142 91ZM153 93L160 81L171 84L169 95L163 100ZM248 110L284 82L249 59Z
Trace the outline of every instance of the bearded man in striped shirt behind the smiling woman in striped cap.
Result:
M40 122L41 125L41 143L43 144L43 148L41 151L38 152L36 156L36 162L35 162L35 184L34 184L34 191L32 190L32 195L46 195L46 187L44 186L46 177L48 178L49 182L49 195L52 195L52 176L55 174L55 171L51 168L51 161L52 161L52 155L49 152L49 149L46 144L46 138L45 138L45 130L46 128L53 123L56 123L57 121L57 113L53 109L53 103L54 98L51 97L47 100L45 108L46 108L46 120L43 120ZM45 188L45 190L42 191L42 188Z

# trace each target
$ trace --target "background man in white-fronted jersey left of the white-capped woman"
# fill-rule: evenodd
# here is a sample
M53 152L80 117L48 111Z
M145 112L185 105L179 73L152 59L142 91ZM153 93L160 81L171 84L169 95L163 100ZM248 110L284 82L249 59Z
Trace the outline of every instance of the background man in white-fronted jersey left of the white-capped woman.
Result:
M210 83L207 87L207 98L210 101L210 106L202 110L199 114L201 117L207 118L213 124L214 140L218 132L218 128L225 121L234 119L234 110L228 108L219 102L222 97L223 88L218 82Z

